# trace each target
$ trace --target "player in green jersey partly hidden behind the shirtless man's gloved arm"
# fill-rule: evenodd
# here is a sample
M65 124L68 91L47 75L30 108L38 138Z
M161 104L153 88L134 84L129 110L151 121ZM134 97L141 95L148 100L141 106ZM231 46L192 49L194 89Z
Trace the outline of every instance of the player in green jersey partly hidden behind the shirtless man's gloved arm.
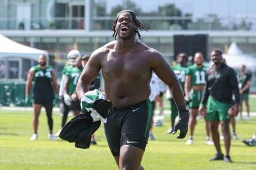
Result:
M185 94L184 91L184 85L185 85L185 73L187 72L187 62L188 62L188 55L185 52L179 52L176 55L176 61L178 64L176 66L172 67L173 71L175 72L179 83L181 84L182 91ZM175 125L175 119L178 116L178 110L176 107L176 103L173 100L173 98L170 98L170 122L171 126L170 128L166 131L166 134L171 134L173 132L173 127Z

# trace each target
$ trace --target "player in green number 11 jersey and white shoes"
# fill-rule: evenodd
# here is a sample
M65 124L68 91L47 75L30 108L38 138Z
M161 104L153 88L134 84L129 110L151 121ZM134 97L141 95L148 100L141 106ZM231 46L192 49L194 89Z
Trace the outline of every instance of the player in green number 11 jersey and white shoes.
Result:
M193 144L194 128L196 126L196 118L199 115L199 104L205 88L205 73L208 66L203 64L202 52L194 54L194 64L189 66L186 72L185 79L185 98L190 101L190 137L186 144ZM206 144L214 145L210 138L210 124L206 120Z

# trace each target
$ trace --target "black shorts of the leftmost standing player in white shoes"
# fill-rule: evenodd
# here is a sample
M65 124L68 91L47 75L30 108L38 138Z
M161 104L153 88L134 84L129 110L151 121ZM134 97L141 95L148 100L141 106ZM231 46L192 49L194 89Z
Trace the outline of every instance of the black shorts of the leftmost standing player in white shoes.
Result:
M40 89L33 90L33 103L41 104L42 106L53 105L54 94L53 91L44 92Z

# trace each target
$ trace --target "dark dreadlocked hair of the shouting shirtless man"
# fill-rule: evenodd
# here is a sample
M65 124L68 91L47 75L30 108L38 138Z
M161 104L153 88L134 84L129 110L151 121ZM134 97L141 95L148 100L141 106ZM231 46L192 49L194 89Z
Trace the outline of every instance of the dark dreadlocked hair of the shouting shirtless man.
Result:
M117 18L115 18L114 22L113 22L113 25L112 25L112 31L114 31L112 37L114 37L115 39L117 39L117 31L115 30L115 26L117 24L117 20L118 20L118 17L123 14L123 13L127 13L127 14L130 14L133 18L133 21L135 22L135 26L137 26L140 30L144 29L144 30L147 30L148 27L145 26L144 24L142 24L139 20L137 20L137 16L136 14L131 11L131 10L123 10L121 12L119 12L117 14ZM148 31L148 30L147 30ZM135 36L138 34L139 36L139 39L141 39L141 34L139 33L139 30L135 30Z

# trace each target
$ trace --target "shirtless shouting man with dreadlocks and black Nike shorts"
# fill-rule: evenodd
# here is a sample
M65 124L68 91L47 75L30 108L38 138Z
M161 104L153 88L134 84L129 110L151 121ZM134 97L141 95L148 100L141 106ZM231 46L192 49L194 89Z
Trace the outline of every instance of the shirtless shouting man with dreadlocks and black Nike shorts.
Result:
M141 161L150 133L153 71L172 90L178 106L179 120L173 134L179 129L177 138L184 138L188 131L189 112L181 85L159 51L136 41L136 35L141 37L138 29L147 27L133 11L118 13L112 27L115 41L92 53L77 83L81 100L102 69L105 97L112 103L104 124L105 135L119 169L144 169Z

